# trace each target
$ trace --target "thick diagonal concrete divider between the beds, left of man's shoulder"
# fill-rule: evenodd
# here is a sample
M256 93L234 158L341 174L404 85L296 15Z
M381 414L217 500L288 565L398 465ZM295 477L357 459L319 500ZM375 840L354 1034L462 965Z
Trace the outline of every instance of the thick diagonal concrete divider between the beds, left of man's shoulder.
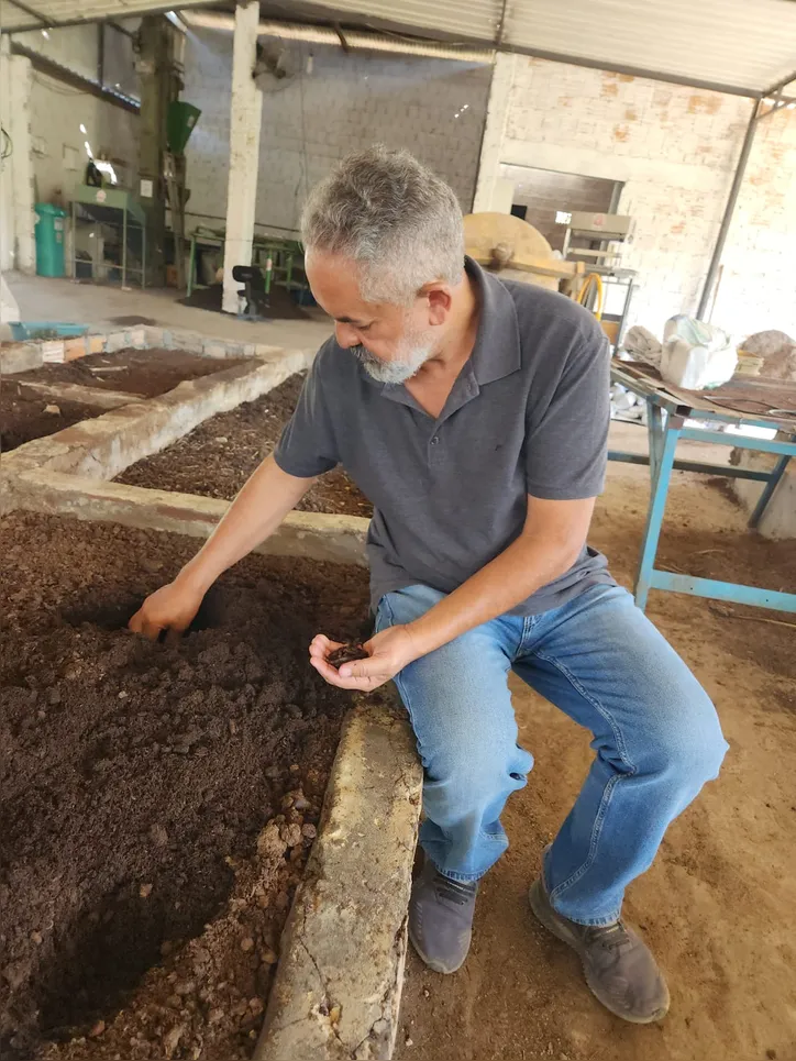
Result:
M11 478L35 468L110 479L192 431L203 420L267 394L311 364L298 350L272 351L267 358L184 380L157 398L134 401L84 420L3 455Z

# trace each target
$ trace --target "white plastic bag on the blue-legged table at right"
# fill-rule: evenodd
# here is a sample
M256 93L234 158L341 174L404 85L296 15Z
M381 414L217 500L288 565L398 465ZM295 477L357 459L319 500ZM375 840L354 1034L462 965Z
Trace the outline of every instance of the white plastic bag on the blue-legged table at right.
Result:
M738 364L730 336L715 324L678 313L663 329L661 375L686 390L719 387Z

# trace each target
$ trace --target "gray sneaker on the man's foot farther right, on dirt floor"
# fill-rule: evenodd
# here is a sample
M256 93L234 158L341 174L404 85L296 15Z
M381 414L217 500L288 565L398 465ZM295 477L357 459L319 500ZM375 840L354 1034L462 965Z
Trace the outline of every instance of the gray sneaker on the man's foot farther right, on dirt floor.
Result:
M577 951L586 983L623 1020L652 1024L668 1010L668 987L649 947L623 921L578 925L553 909L542 880L531 887L531 909L559 939Z

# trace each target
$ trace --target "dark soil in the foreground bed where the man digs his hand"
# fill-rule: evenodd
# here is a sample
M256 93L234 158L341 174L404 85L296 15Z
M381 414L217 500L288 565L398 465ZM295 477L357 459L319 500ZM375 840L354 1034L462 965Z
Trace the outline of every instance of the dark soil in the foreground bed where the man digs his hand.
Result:
M0 1056L251 1057L361 639L367 575L252 556L176 644L124 629L194 540L3 520Z

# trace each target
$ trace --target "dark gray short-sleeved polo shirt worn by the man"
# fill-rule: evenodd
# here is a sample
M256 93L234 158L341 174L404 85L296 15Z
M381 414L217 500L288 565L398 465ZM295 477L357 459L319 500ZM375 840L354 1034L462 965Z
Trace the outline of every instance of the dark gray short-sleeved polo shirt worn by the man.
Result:
M371 600L422 583L451 593L519 535L527 495L602 490L609 421L608 344L562 295L499 280L467 258L480 289L473 353L434 419L402 384L367 375L332 338L320 349L275 450L290 475L342 464L373 502ZM566 574L513 610L537 615L612 584L584 549Z

